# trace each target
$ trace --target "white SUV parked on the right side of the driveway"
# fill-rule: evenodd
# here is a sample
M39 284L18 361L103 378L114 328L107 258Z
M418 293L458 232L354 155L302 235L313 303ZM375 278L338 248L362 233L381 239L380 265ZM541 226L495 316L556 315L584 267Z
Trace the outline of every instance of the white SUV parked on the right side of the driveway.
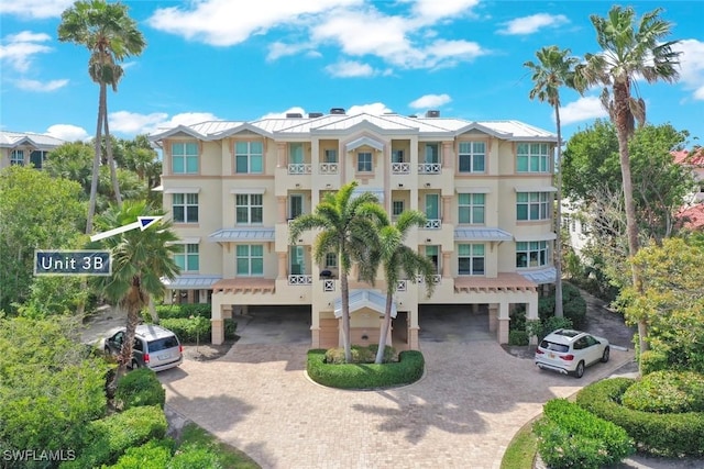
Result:
M608 361L610 347L604 337L566 328L546 336L536 349L536 365L542 370L559 371L582 378L584 368Z

